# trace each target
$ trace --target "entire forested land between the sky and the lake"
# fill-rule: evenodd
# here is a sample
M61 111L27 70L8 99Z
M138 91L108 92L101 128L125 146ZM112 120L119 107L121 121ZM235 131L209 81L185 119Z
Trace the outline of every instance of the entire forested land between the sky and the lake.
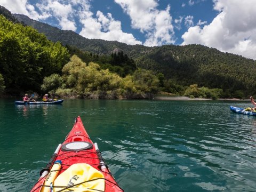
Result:
M109 99L152 98L160 91L214 99L256 93L256 61L239 55L195 44L146 47L86 39L0 8L11 20L0 17L0 93ZM75 72L70 65L79 67Z

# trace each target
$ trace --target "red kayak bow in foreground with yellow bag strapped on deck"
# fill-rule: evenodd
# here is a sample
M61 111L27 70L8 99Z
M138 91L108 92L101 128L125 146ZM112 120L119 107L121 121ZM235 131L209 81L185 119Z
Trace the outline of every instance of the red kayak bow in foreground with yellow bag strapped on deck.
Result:
M110 173L97 143L92 142L79 116L40 174L31 192L124 191Z

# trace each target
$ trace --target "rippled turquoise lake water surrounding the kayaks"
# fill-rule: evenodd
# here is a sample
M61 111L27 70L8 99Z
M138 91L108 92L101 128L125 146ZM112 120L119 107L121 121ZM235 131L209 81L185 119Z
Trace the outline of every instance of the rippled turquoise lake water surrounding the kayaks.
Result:
M125 191L255 191L256 117L237 101L0 99L0 191L29 191L81 116Z

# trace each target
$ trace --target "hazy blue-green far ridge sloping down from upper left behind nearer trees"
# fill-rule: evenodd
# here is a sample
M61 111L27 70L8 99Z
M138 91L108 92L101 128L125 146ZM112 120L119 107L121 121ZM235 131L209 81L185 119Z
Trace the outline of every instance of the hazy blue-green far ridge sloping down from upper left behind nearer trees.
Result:
M53 42L61 42L63 45L76 46L82 51L89 51L96 54L111 54L116 50L122 50L129 55L137 55L139 53L151 50L151 47L146 47L143 45L127 45L125 43L120 43L117 41L105 41L102 39L88 39L81 35L78 35L71 30L61 30L57 27L52 27L46 23L39 22L30 19L26 15L13 14L13 16L20 22L25 23L28 26L32 26L37 29L39 33L44 33L48 39ZM135 51L136 50L136 51Z

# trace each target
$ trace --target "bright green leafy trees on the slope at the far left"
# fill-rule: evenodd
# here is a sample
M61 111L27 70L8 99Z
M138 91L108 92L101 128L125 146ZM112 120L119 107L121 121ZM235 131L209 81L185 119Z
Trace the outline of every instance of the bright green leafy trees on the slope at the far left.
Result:
M7 93L39 92L43 78L61 73L68 60L69 52L59 42L0 15L0 74Z

